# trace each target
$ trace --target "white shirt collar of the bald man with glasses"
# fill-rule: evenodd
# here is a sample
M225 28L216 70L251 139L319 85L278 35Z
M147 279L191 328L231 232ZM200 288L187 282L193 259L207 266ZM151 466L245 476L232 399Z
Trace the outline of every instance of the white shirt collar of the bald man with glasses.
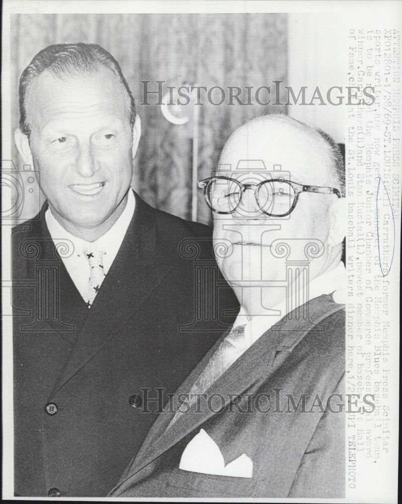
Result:
M338 266L333 270L329 271L328 273L324 273L323 275L319 275L318 277L311 280L311 282L308 284L308 298L305 302L311 301L311 299L319 297L323 294L331 294L334 292L334 301L337 303L344 303L346 289L345 282L346 269L345 265L340 262ZM301 295L298 298L303 299ZM292 306L291 311L298 306L299 305L297 305L296 303L294 306ZM236 348L238 349L241 348L243 350L242 354L274 324L279 322L283 317L287 315L287 313L289 313L289 311L286 310L286 299L274 306L272 309L280 310L280 314L256 315L251 320L249 320L244 307L242 306L242 308L240 308L237 318L233 324L233 329L237 326L245 325L245 337L243 341L238 342L237 346L235 342L232 342L232 340L230 340L230 343L232 343L232 345L236 346ZM247 346L244 346L245 341L247 342ZM242 345L241 347L240 344ZM240 357L240 355L238 355L238 357Z

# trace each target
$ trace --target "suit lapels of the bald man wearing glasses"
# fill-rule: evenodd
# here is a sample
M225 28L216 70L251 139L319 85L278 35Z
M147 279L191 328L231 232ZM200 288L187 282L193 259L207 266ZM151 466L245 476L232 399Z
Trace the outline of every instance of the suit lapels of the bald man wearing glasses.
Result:
M324 311L321 304L323 298L329 301L329 306ZM296 320L295 318L285 317L279 321L220 376L208 390L207 395L210 397L212 394L220 394L224 398L226 406L230 402L229 394L240 395L257 382L261 376L265 376L266 378L270 376L273 372L272 364L277 351L292 352L293 348L310 330L316 327L317 323L343 308L344 305L336 304L330 296L320 296L313 299L310 301L309 320ZM285 323L283 323L284 320ZM175 393L175 397L178 397L180 394L189 393L194 382L228 332L219 338L218 342L215 343L194 368L194 371ZM195 410L196 404L187 413L183 414L169 429L167 427L175 413L160 414L125 475L128 477L138 472L216 414L213 411L208 411L207 408L202 413L195 413ZM124 480L119 482L119 485L123 482Z

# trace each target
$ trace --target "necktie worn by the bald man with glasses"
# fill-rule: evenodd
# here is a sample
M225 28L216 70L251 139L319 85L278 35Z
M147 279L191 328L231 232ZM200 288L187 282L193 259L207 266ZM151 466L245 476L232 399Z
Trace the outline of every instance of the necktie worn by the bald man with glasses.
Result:
M226 369L245 352L248 346L248 342L245 338L245 325L237 326L232 329L212 355L205 369L191 388L188 403L190 405L195 403L197 401L195 395L204 394ZM194 394L193 397L192 394ZM183 412L178 410L168 428L171 427L182 414Z

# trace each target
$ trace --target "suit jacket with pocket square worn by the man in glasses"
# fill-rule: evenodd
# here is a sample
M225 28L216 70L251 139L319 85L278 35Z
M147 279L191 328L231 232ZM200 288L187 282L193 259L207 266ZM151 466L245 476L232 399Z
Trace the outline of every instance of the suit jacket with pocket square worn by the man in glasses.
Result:
M343 394L343 308L331 296L320 296L309 303L310 322L296 319L293 312L290 320L282 319L261 336L208 392L223 396L222 412L215 413L219 402L214 412L204 401L201 413L195 404L169 429L174 413L160 414L110 495L342 497L345 413L331 413L327 399ZM188 394L220 341L179 387L177 397ZM235 406L228 394L239 396ZM303 394L305 407L297 407ZM339 403L336 396L330 403L333 411ZM250 457L252 478L179 469L184 449L200 428L217 444L225 465L242 454Z

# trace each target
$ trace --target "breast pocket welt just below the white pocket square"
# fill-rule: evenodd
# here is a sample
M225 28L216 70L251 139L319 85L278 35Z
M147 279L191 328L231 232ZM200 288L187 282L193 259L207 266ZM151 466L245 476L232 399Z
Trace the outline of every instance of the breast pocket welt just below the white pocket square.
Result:
M168 486L192 490L189 496L197 497L249 497L254 484L253 478L217 476L183 469L174 469L168 479Z

